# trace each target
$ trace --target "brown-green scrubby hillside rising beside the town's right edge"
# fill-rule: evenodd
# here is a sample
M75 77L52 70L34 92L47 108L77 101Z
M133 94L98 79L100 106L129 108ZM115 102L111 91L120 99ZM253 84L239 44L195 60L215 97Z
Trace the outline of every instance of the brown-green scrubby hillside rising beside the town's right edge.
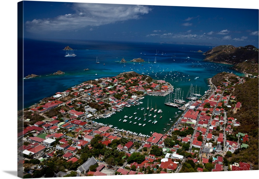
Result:
M230 81L232 78L235 80L234 74L229 73L219 73L212 77L212 82L214 85L218 85L221 81L227 79ZM227 117L233 117L237 119L240 126L234 127L234 136L239 132L248 134L249 141L246 144L249 145L247 149L239 149L234 152L234 154L227 158L229 163L234 162L246 162L253 164L253 170L258 170L258 152L259 152L259 142L258 142L258 130L259 130L259 81L258 78L245 78L246 82L242 84L236 84L229 87L234 87L231 92L232 96L235 96L236 102L242 104L241 108L237 111L229 108L227 112ZM229 88L226 87L226 88ZM242 141L239 141L242 142Z

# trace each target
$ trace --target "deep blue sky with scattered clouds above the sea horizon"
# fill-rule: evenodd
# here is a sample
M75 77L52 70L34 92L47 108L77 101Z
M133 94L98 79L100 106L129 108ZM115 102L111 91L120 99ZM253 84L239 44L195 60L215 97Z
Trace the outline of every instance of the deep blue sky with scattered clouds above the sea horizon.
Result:
M24 2L25 38L231 44L258 48L258 21L258 9Z

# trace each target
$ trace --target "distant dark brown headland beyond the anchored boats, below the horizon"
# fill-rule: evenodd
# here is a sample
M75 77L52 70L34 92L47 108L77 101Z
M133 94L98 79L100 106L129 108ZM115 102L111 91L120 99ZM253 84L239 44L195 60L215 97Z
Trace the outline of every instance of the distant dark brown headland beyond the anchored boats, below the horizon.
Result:
M203 53L204 61L234 65L233 69L242 73L258 74L258 48L253 45L234 47L220 45Z

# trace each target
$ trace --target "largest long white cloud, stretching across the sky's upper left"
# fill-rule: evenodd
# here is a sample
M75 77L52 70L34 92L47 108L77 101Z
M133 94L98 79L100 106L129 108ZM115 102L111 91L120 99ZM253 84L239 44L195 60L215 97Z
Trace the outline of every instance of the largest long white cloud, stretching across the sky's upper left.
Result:
M55 18L33 19L25 23L28 32L74 31L87 26L100 26L139 19L152 9L143 5L74 3L75 13Z

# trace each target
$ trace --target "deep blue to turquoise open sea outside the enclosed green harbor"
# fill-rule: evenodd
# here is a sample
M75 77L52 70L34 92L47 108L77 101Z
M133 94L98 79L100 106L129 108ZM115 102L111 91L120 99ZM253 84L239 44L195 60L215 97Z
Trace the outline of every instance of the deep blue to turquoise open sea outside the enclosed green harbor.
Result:
M66 46L75 50L76 57L64 57L65 51L62 49ZM28 108L45 97L84 81L113 77L125 71L136 71L156 80L166 80L174 88L182 88L185 96L191 84L197 85L203 95L208 90L207 78L222 71L233 71L229 69L230 65L203 61L205 56L197 51L206 52L211 48L144 42L24 39L24 77L29 74L40 77L24 79L24 102L18 102L18 109ZM185 60L187 57L190 58ZM96 64L96 58L99 64ZM122 58L127 61L125 67L120 62ZM142 58L145 62L134 65L130 60L135 58ZM57 70L65 74L49 75ZM242 75L236 71L233 73ZM199 78L195 80L196 77Z

